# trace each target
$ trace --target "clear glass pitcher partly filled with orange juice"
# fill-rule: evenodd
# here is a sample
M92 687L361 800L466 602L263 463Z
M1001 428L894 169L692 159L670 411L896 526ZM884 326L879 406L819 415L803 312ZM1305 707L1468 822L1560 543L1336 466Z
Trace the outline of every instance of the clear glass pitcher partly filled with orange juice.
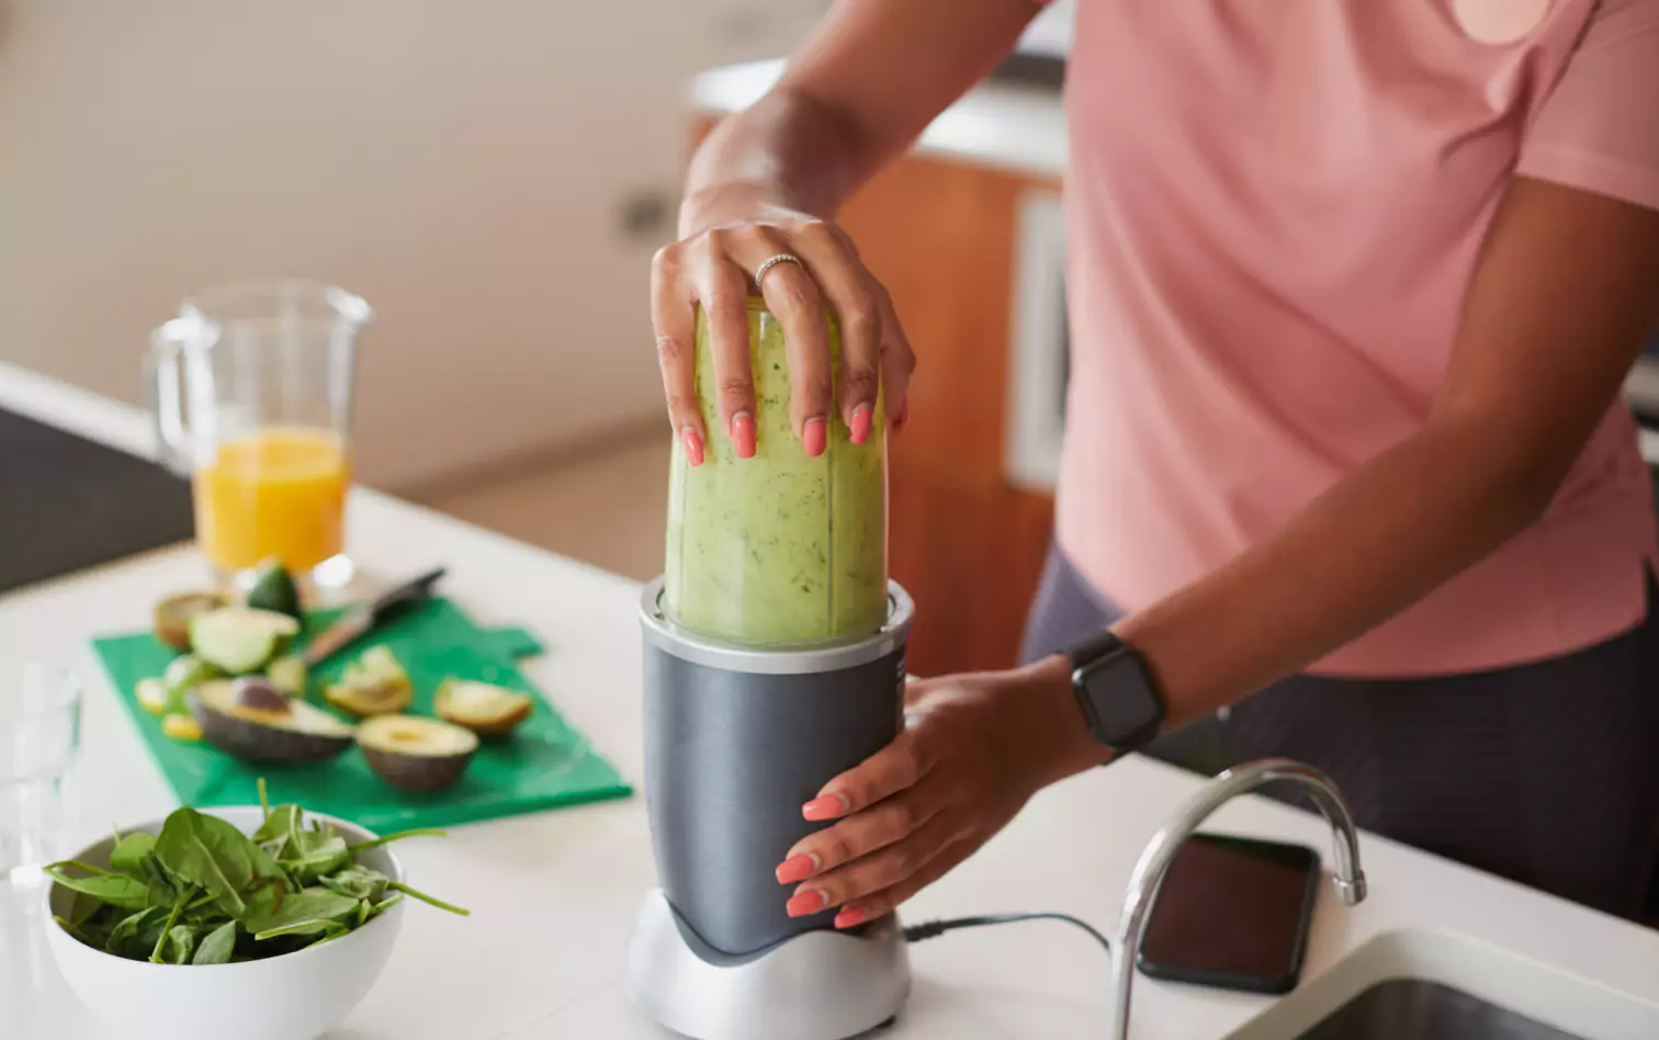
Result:
M267 557L320 589L352 577L345 494L360 297L302 280L197 294L151 335L163 463L191 478L196 544L227 584Z

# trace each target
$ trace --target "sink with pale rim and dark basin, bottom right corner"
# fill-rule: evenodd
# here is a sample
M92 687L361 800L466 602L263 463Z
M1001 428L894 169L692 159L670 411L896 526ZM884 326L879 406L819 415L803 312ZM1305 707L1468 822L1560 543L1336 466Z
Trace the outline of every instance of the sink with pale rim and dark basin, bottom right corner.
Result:
M1659 1004L1457 932L1382 932L1228 1040L1651 1040Z

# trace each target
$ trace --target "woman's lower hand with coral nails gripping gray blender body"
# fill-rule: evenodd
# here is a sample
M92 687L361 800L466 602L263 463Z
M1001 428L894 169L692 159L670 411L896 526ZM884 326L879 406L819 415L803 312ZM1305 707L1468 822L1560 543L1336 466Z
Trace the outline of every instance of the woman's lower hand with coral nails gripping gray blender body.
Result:
M791 917L879 917L1000 831L1040 788L1107 760L1072 697L1070 663L917 680L904 731L836 776L801 813L838 819L778 866Z

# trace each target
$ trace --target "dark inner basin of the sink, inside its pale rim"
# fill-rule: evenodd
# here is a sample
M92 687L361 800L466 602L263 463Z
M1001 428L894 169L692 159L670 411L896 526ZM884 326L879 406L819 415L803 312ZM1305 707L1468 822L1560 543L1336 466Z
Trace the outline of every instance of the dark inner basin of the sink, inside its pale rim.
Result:
M1584 1040L1423 979L1364 990L1296 1040Z

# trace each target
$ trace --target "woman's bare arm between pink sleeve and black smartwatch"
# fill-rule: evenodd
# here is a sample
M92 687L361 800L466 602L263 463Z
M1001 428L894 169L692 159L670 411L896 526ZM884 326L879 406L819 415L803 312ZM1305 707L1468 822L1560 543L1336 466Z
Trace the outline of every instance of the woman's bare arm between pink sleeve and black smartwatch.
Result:
M1117 625L1180 727L1339 649L1540 518L1659 323L1659 212L1503 199L1423 428L1271 537Z

